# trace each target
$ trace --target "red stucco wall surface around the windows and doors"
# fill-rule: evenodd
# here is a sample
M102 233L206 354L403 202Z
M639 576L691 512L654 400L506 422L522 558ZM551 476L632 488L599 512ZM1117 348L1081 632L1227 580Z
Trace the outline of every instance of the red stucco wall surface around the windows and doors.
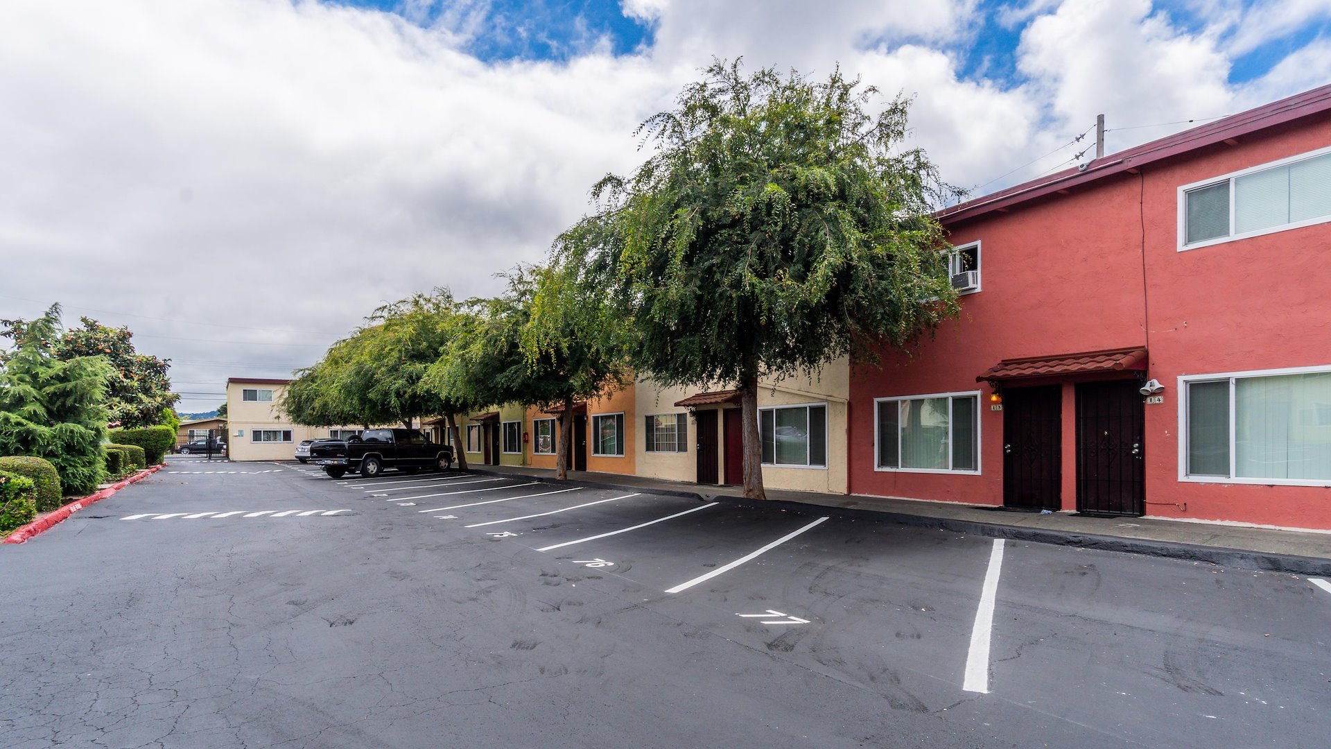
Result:
M1002 504L1002 413L976 376L1002 359L1147 347L1146 514L1331 528L1331 488L1178 480L1181 374L1331 365L1331 224L1178 252L1178 188L1331 144L1331 119L1110 176L949 227L981 243L981 289L909 356L851 378L851 492ZM1147 331L1149 311L1149 331ZM981 474L873 469L873 398L981 393ZM1062 506L1075 508L1075 400L1063 385ZM1186 509L1183 509L1186 508Z

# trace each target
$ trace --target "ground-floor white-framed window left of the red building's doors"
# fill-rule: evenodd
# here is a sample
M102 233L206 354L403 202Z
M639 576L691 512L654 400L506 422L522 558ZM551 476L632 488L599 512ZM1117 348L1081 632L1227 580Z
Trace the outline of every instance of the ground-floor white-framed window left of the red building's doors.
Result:
M980 473L980 392L873 400L874 470Z

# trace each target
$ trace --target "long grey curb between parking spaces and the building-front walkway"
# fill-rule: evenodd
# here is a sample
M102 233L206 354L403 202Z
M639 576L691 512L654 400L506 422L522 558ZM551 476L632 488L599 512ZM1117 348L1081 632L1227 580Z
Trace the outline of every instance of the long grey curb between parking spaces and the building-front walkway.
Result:
M484 476L527 477L523 473L507 473L503 470L470 469L470 473ZM535 477L534 477L535 478ZM1283 572L1310 577L1331 577L1331 560L1320 557L1300 557L1295 554L1275 554L1266 552L1248 552L1244 549L1227 549L1221 546L1199 546L1195 544L1182 544L1178 541L1157 541L1153 538L1125 538L1121 536L1099 536L1093 533L1078 533L1071 530L1050 530L1046 528L1021 528L1017 525L1004 525L1001 522L978 522L972 520L954 520L946 517L930 517L925 514L908 514L888 510L835 508L796 502L791 500L747 500L732 494L704 494L701 492L687 492L680 489L655 489L648 486L634 486L631 484L612 484L598 481L574 481L559 478L540 478L547 484L568 484L588 486L592 489L614 489L664 494L673 497L691 497L704 502L725 502L737 506L779 509L797 514L817 514L831 517L847 517L855 520L876 520L880 522L894 522L908 528L930 528L936 530L949 530L965 533L968 536L985 536L989 538L1012 538L1014 541L1033 541L1037 544L1051 544L1058 546L1077 546L1082 549L1099 549L1105 552L1122 552L1129 554L1145 554L1151 557L1165 557L1182 561L1197 561L1242 569L1260 569L1266 572Z

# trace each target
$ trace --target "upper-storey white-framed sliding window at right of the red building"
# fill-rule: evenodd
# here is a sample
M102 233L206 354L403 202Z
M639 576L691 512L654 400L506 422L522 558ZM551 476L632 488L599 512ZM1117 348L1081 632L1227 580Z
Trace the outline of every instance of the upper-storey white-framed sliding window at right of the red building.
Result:
M1178 249L1331 221L1331 148L1178 188Z

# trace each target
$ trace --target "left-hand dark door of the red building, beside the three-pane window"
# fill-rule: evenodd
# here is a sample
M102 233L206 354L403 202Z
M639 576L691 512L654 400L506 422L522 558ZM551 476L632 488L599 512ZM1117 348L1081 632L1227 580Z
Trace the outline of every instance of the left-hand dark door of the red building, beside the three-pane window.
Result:
M1062 484L1062 393L1012 388L1002 394L1002 504L1058 509Z

